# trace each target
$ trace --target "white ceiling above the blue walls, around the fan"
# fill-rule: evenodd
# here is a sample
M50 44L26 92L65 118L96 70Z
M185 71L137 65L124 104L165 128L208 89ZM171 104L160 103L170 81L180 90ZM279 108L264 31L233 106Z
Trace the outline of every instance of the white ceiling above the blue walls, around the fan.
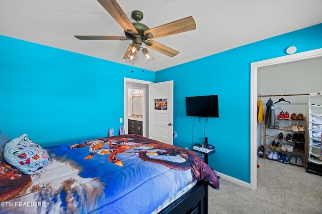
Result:
M193 16L197 29L155 41L180 53L135 67L158 71L232 48L322 23L322 0L117 0L129 17L142 11L149 28ZM124 36L96 0L0 0L0 34L127 64L131 41L81 41L73 35ZM286 47L283 47L286 48Z

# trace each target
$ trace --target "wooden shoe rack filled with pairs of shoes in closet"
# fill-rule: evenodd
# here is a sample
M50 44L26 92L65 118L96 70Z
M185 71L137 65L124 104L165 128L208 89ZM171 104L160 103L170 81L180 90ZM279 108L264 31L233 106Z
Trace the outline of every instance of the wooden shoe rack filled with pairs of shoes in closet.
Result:
M303 116L302 120L299 119L284 119L284 118L278 118L276 117L276 121L278 124L276 124L276 128L269 128L265 124L265 117L264 117L264 153L263 158L268 158L268 151L271 151L272 149L275 149L277 153L281 152L283 154L287 155L288 160L291 159L292 156L296 158L300 157L302 160L302 165L305 167L305 160L306 160L306 116ZM297 127L304 127L300 130L294 131L294 128L292 126ZM280 133L283 134L283 138L279 139ZM286 140L287 135L290 134L292 136L291 140ZM294 134L303 136L301 137L302 142L300 141L293 141ZM304 138L304 139L303 139ZM299 140L299 139L298 139ZM271 148L272 142L275 141L276 143L279 142L280 146L278 148ZM283 144L291 145L292 151L290 149L287 149L286 151L282 150L281 147ZM300 162L300 161L299 161ZM294 165L298 165L296 163L293 163Z

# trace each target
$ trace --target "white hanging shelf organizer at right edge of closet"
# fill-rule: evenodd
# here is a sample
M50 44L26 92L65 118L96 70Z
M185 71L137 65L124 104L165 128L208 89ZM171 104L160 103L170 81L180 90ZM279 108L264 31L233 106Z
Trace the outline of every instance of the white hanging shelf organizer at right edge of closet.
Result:
M319 165L322 170L321 126L322 95L311 95L308 97L308 162Z

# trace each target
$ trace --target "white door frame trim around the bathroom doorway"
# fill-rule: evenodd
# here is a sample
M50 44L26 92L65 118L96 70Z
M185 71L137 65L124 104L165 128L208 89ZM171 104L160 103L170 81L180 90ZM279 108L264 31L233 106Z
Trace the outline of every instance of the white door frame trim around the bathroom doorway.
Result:
M127 101L127 90L126 90L126 83L127 82L132 82L132 83L139 83L139 84L145 84L145 85L150 85L153 82L146 81L146 80L137 80L137 79L131 79L131 78L126 78L124 77L124 83L123 83L123 126L125 133L128 133L128 115L127 115L127 106L126 106L126 101ZM144 93L146 94L146 93ZM146 96L146 95L145 95ZM144 98L145 99L145 98ZM146 110L148 111L148 109ZM148 112L147 112L148 114ZM143 131L146 130L145 125L146 124L146 117L143 117ZM143 135L144 136L144 135Z

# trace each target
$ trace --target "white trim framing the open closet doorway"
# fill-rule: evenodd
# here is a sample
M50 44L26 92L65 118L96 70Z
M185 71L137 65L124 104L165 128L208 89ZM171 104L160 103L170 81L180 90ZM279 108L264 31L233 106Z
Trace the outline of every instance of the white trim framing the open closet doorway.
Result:
M251 189L257 188L257 72L258 68L322 57L322 48L251 63Z

